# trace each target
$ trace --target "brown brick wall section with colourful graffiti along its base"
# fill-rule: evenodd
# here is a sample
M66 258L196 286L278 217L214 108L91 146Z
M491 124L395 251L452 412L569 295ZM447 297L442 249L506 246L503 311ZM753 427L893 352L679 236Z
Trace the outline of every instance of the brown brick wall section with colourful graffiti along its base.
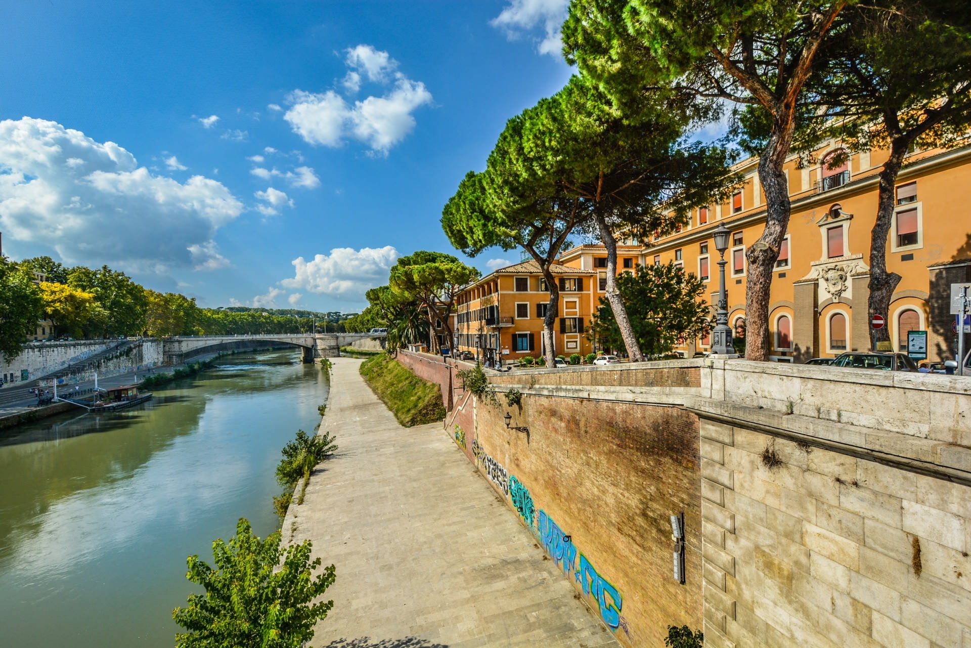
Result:
M697 419L682 409L523 395L478 401L473 459L620 643L662 646L701 627ZM505 426L509 411L514 426ZM671 515L684 513L686 584L673 574Z

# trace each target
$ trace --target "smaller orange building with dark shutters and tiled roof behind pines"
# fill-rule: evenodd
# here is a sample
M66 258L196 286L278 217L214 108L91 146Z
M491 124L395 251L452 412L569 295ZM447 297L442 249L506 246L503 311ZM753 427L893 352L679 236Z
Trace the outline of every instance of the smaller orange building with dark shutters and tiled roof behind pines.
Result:
M592 353L585 335L595 309L596 272L554 264L559 283L559 318L553 329L556 355ZM534 260L495 270L458 295L456 350L485 363L543 355L543 321L550 291Z

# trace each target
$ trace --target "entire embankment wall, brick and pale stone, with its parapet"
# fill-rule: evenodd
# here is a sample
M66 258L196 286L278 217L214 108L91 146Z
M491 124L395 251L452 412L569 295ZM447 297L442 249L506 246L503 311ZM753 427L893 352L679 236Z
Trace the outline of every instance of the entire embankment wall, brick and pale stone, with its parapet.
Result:
M463 394L446 430L621 643L686 624L717 648L971 646L971 379L684 360L491 380L498 404Z

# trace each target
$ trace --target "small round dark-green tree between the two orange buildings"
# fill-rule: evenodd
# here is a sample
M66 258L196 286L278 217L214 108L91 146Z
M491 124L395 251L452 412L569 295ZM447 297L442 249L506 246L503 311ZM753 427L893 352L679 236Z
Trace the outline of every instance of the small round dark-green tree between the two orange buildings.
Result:
M649 356L670 353L679 339L704 333L711 325L709 307L701 299L704 284L681 266L638 265L636 274L619 276L618 286L637 342ZM599 339L621 348L623 338L614 310L604 297L596 320Z

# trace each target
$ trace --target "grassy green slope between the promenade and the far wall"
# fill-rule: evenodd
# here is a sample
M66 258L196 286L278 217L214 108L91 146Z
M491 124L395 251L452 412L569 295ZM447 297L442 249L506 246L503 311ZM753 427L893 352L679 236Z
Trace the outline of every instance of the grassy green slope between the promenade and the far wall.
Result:
M402 426L421 426L445 418L439 386L422 380L387 354L362 362L361 375Z

